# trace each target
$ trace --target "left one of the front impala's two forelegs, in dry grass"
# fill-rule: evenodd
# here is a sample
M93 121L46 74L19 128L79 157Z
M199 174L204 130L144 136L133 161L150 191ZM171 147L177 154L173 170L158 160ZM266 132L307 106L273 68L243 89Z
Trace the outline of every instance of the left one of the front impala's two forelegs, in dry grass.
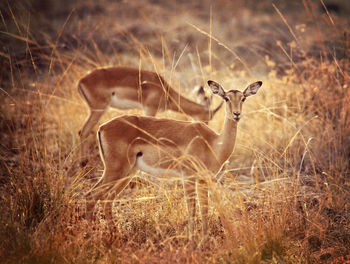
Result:
M184 189L189 215L189 237L192 240L194 235L194 220L196 216L196 182L193 177L184 181Z

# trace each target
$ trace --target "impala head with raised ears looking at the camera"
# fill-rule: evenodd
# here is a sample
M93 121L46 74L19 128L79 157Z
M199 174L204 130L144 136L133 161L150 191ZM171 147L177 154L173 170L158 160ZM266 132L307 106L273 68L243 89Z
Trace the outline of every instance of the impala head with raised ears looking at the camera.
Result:
M261 81L254 82L244 90L230 90L225 92L220 84L214 81L208 81L208 85L214 94L221 96L226 101L226 115L229 119L238 122L241 119L242 105L248 96L258 92L262 85Z

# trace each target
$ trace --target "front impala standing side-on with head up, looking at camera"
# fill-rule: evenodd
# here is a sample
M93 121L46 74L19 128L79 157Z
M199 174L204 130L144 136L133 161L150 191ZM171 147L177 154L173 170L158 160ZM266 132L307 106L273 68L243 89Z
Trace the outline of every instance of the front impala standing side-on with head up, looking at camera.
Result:
M120 193L130 181L135 169L152 176L181 177L184 181L189 230L193 233L196 212L196 182L202 215L202 232L207 233L208 187L205 175L216 174L230 157L235 146L242 104L257 93L262 82L250 84L244 92L224 89L208 81L214 94L226 101L226 117L220 134L203 122L157 119L125 115L103 124L98 132L104 172L87 194L87 215L91 219L98 200L107 198L112 190ZM105 204L105 214L112 217L111 201Z

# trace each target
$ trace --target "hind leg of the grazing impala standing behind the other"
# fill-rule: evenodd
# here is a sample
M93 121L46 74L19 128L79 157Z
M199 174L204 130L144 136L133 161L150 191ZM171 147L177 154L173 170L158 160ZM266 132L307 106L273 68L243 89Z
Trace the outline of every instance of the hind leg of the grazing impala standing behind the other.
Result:
M81 155L81 167L84 167L87 162L87 153L88 153L88 142L87 138L89 137L90 131L98 123L101 116L103 115L103 110L91 110L88 119L86 120L83 128L79 131L80 135L80 155Z

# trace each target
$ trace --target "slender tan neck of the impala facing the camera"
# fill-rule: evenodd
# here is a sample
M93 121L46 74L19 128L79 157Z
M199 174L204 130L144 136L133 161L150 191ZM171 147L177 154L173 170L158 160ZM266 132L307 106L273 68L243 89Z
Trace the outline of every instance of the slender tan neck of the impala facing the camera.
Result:
M236 144L238 122L225 118L224 127L217 139L217 157L220 164L223 164L232 154Z

